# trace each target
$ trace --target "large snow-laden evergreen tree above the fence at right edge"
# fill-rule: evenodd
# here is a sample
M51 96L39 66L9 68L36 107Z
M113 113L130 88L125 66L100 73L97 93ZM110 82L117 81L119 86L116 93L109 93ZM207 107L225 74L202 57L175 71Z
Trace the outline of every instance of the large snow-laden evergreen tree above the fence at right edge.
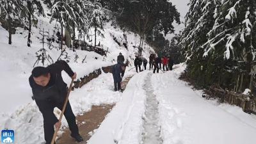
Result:
M256 1L191 0L189 5L181 42L188 75L201 85L218 83L230 90L237 77L246 75L243 88L248 87L255 61Z

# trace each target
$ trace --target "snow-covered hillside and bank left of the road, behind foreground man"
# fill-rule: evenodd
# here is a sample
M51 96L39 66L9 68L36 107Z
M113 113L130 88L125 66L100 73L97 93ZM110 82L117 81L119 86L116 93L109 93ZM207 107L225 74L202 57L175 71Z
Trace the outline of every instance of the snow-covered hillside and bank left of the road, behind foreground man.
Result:
M12 45L8 45L8 38L6 37L8 36L8 32L0 26L0 129L15 129L15 143L35 144L44 141L43 118L35 101L31 99L32 92L28 83L28 77L37 60L35 52L42 48L42 44L40 44L40 40L38 39L38 37L41 38L39 31L44 29L44 31L50 31L51 33L54 26L55 22L49 24L49 17L39 17L37 28L32 28L33 35L31 36L31 40L33 43L31 47L27 47L26 45L28 31L17 28L15 35L12 35ZM68 52L68 56L70 56L70 62L68 64L74 72L77 72L77 79L86 76L97 68L115 64L116 56L118 56L119 52L122 52L125 60L128 59L132 65L135 53L138 51L134 46L139 45L140 37L134 33L113 28L111 22L105 24L102 33L104 33L104 38L97 37L97 43L100 42L103 48L106 51L108 50L109 53L106 57L96 52L81 50L74 52L64 46ZM127 49L124 45L118 45L113 38L121 44L124 41L127 42ZM92 44L94 44L93 40ZM88 42L88 40L86 41ZM91 42L88 43L91 44ZM57 49L50 51L47 48L47 44L44 47L46 47L45 49L49 52L52 60L56 61L61 51L57 51ZM147 44L144 47L145 49L142 54L145 58L148 58L150 52L154 50ZM75 62L76 54L79 56L77 62ZM86 59L82 63L85 56ZM49 64L46 61L45 66ZM39 62L38 65L42 64ZM125 75L128 76L129 74L126 73ZM70 77L65 72L63 72L63 79L67 84L70 83ZM111 104L117 102L119 99L120 93L113 92L112 75L102 74L97 79L86 84L86 86L83 86L83 88L72 92L70 103L75 115L79 115L84 111L90 110L93 104ZM57 111L56 109L56 114ZM63 125L67 126L65 120L63 120ZM24 134L22 131L27 132Z

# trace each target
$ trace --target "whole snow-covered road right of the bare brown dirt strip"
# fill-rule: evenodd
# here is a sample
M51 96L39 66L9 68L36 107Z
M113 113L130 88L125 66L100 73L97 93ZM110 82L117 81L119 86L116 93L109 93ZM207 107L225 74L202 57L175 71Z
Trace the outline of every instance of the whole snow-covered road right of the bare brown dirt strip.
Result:
M152 74L152 71L146 70L132 77L122 100L88 143L147 144L150 137L145 141L143 133L149 131L153 132L148 134L152 135L151 142L163 140L164 144L255 143L255 116L243 113L241 108L235 106L205 100L200 91L192 90L186 82L179 80L180 72L184 70L179 66L172 72ZM148 131L148 127L145 127L150 116L147 111L152 109L147 106L150 104L147 100L152 100L154 96L159 104L158 113L153 112L152 116L159 115L159 118L156 118L158 124L154 122L156 120L150 122L154 122L153 125L159 129L160 138L157 138L157 131ZM156 104L154 99L153 103Z

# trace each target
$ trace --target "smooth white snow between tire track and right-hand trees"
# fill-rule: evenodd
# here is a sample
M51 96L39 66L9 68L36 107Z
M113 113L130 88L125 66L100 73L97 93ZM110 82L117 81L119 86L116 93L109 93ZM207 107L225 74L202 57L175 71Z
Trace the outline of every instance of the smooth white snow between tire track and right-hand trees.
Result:
M205 100L178 79L179 71L152 75L164 144L255 143L256 120L252 115Z

